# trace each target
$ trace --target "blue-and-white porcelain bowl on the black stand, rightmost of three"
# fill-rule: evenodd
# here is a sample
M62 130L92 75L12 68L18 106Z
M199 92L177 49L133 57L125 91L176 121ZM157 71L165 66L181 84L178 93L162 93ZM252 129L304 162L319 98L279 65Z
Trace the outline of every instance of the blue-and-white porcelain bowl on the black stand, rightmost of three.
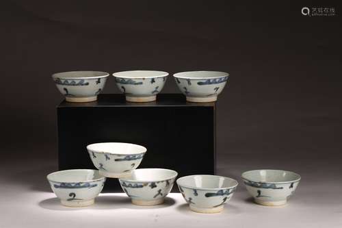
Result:
M176 84L190 102L212 102L226 86L229 74L220 71L187 71L173 75Z

